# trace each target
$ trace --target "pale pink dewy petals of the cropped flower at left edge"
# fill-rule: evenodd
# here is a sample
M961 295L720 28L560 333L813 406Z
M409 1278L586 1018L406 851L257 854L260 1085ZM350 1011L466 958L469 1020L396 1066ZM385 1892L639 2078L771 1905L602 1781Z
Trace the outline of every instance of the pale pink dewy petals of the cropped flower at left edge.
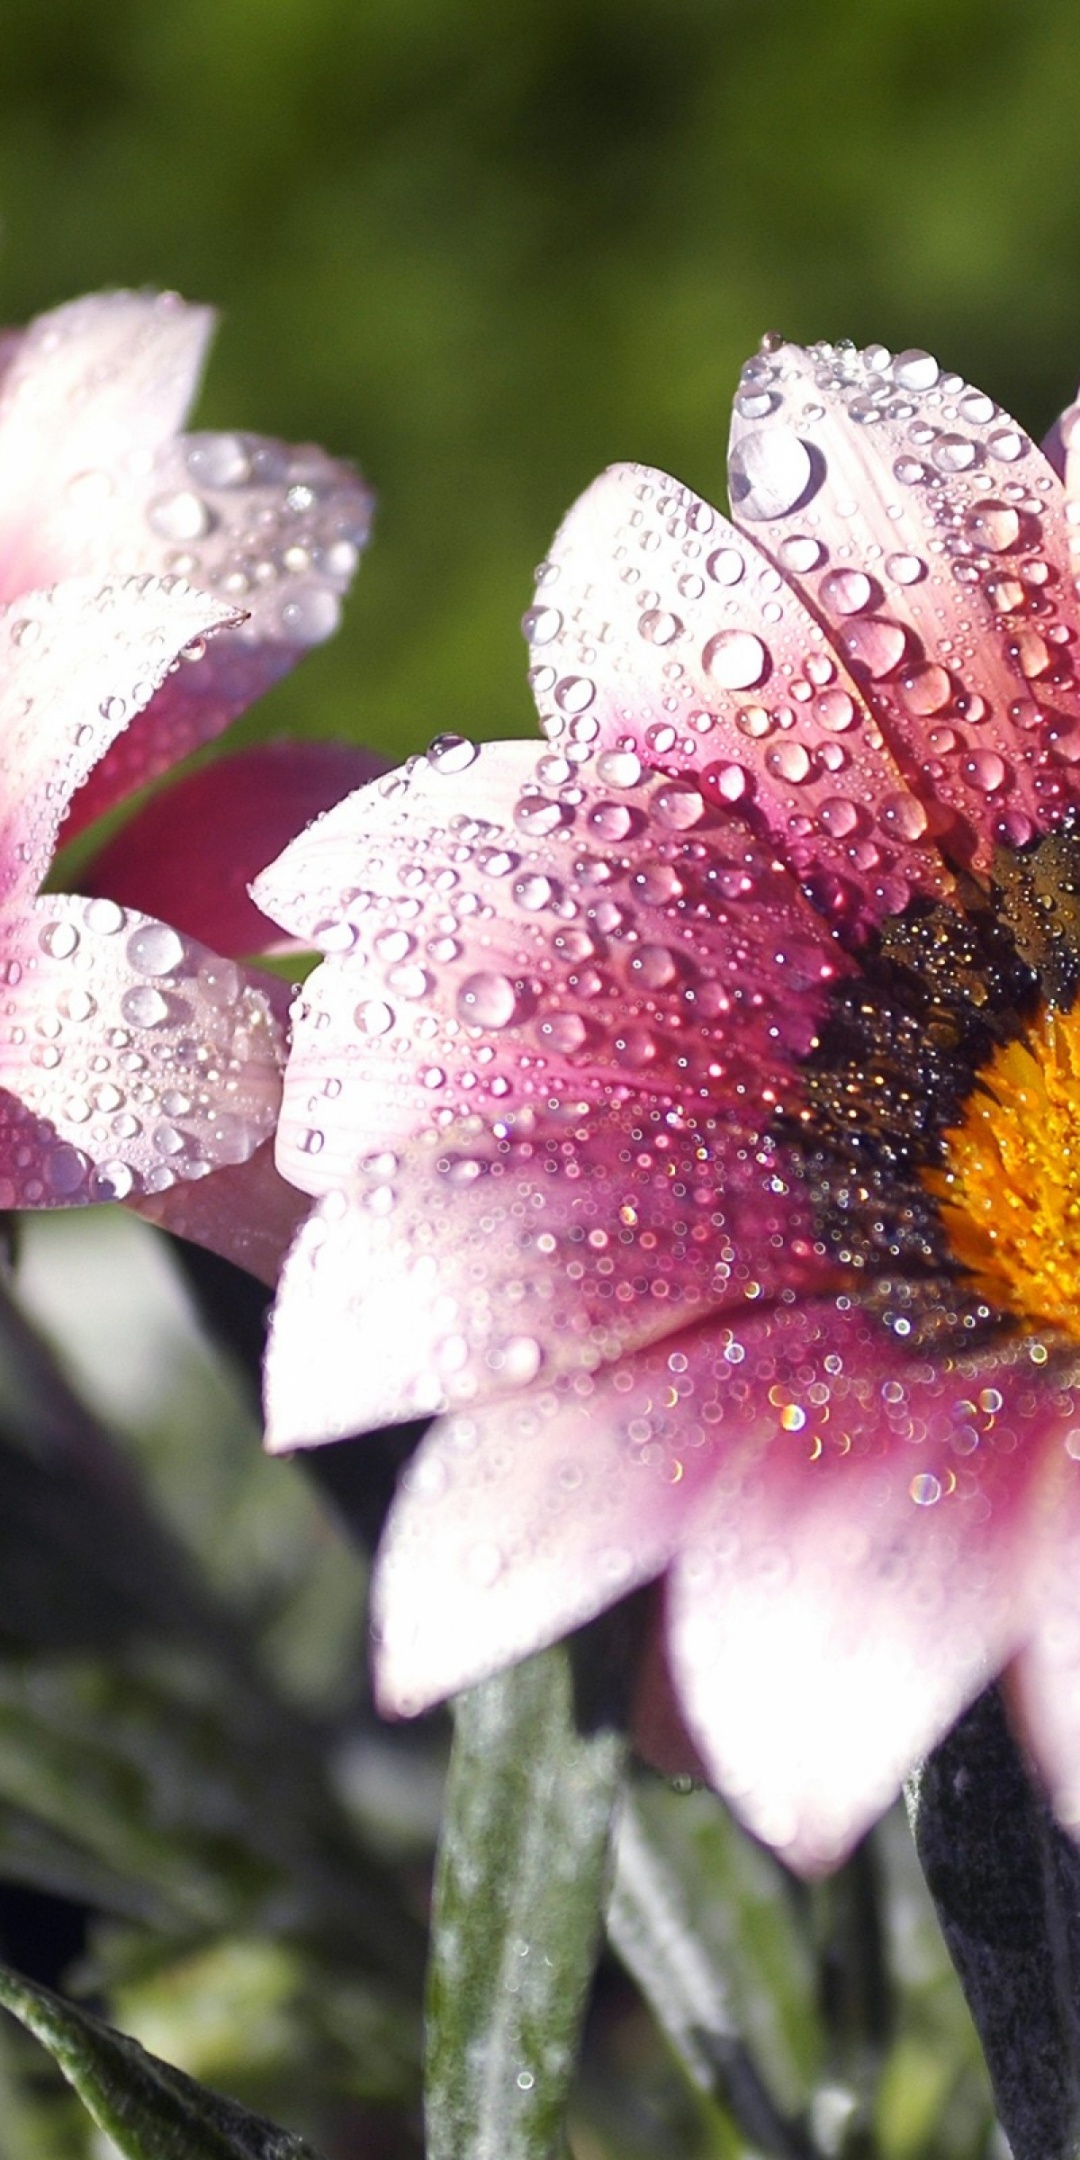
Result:
M177 434L210 322L106 294L0 346L4 1207L162 1197L274 1125L272 983L106 892L39 896L58 838L333 629L365 534L322 451Z

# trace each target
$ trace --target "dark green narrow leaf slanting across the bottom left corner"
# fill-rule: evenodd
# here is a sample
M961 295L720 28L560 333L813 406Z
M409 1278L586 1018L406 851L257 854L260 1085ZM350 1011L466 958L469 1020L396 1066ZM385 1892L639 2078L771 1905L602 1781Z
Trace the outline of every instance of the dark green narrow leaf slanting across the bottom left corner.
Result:
M48 2048L123 2160L318 2160L296 2132L210 2093L9 1966L0 2002Z

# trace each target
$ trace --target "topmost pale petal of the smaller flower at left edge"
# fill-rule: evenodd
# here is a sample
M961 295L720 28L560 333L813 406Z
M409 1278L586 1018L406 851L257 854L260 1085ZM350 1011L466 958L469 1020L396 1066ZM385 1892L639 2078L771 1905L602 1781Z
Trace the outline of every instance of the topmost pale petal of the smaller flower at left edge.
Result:
M212 326L175 294L106 292L22 333L0 376L2 600L119 568L117 488L181 426Z

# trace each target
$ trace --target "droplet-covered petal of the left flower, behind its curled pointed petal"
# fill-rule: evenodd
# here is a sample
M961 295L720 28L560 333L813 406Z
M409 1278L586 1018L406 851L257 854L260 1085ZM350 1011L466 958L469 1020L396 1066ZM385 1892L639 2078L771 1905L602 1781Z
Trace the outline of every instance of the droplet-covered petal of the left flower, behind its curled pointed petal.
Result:
M330 637L369 523L372 495L350 464L266 436L184 436L149 471L117 480L95 559L108 549L117 570L184 577L242 620L190 657L114 743L71 806L69 836L220 734Z

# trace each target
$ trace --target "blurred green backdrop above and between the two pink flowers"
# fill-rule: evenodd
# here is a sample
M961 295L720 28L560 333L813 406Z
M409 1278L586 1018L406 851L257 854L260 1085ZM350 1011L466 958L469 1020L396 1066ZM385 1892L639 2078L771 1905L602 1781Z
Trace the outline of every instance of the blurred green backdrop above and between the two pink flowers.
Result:
M1041 430L1080 367L1076 0L0 0L0 289L225 311L201 419L380 495L343 635L244 734L529 726L594 473L721 490L765 328L929 346Z

